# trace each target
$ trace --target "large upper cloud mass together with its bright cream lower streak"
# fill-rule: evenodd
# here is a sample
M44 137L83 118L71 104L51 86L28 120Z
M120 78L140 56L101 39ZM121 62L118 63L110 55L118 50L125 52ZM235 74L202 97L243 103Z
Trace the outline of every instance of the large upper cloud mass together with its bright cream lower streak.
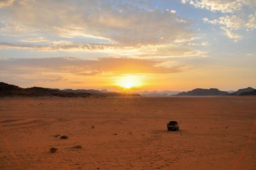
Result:
M179 17L174 10L162 12L151 3L13 1L12 6L1 11L4 26L0 27L0 35L35 38L0 42L0 49L100 51L109 56L132 58L203 54L184 45L193 41L194 33L189 29L193 24L191 20ZM141 6L147 6L147 10Z

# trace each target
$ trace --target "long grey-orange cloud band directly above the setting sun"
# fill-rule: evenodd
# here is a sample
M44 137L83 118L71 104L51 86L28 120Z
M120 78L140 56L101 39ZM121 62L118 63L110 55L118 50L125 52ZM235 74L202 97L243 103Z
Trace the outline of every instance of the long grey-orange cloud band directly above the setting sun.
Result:
M111 88L118 77L138 79L187 72L180 63L150 59L100 58L12 58L0 60L1 81L23 87Z

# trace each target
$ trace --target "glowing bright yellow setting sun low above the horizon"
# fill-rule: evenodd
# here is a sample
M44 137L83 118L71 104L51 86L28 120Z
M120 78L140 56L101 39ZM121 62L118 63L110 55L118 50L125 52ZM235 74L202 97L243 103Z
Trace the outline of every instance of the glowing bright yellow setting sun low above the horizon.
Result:
M141 86L141 79L140 77L134 75L118 77L116 85L124 89L131 89Z

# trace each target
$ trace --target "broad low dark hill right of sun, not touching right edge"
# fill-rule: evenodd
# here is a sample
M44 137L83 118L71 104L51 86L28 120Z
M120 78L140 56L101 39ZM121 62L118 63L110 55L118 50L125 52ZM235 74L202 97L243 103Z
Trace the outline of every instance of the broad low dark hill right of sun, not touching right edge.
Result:
M193 89L188 92L181 92L178 93L175 96L224 96L228 95L229 93L227 91L220 91L219 89L216 88L211 88L211 89Z

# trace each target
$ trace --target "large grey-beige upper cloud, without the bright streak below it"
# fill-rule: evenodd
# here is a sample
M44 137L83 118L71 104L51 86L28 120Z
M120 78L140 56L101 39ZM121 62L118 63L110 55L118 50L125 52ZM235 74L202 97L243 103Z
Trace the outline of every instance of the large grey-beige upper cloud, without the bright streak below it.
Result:
M193 36L189 19L118 1L23 0L14 1L3 13L2 35L89 35L124 46L164 44Z

